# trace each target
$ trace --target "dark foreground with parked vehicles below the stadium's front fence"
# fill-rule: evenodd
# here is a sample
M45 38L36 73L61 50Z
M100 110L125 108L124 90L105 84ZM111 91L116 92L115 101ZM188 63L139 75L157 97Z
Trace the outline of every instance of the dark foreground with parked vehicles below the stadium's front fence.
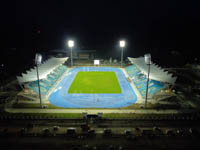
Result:
M12 150L199 149L199 125L198 120L3 120L0 145Z

